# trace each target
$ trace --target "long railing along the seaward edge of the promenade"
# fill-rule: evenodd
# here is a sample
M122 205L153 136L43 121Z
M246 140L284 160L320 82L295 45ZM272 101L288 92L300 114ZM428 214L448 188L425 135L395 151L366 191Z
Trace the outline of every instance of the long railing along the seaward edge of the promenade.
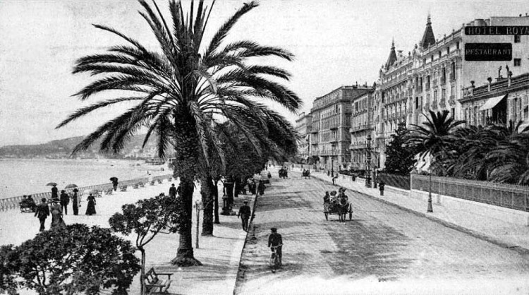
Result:
M173 174L164 174L164 175L157 175L152 177L140 177L137 179L129 179L125 181L119 181L119 186L133 186L136 183L147 183L150 180L151 181L163 181L164 179L171 179L173 177ZM83 192L85 191L91 191L91 190L97 190L97 191L107 191L110 188L114 188L111 182L109 183L102 183L102 184L94 184L92 186L79 186L77 187L79 191L79 196L83 195ZM65 189L66 193L72 193L74 188L68 188ZM40 204L42 203L42 198L51 198L51 191L46 193L33 193L30 194L33 200L35 200L35 203ZM0 199L0 210L6 211L11 209L18 209L20 208L20 202L23 200L23 195L18 195L16 197L11 198L4 198Z

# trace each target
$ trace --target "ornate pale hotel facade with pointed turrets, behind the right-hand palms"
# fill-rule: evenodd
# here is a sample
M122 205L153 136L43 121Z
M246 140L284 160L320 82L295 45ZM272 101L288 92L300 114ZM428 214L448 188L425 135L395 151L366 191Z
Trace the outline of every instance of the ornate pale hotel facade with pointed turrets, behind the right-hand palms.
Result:
M461 106L463 88L475 81L498 76L521 75L529 72L529 36L527 35L465 35L467 26L529 25L529 17L492 17L463 24L458 30L436 40L430 16L425 32L408 54L395 51L392 44L386 64L379 71L375 91L375 143L380 167L384 167L385 146L399 123L420 125L428 111L447 110L456 119L465 119ZM466 43L511 43L511 61L466 61ZM503 76L502 69L505 73ZM468 112L468 111L466 111Z

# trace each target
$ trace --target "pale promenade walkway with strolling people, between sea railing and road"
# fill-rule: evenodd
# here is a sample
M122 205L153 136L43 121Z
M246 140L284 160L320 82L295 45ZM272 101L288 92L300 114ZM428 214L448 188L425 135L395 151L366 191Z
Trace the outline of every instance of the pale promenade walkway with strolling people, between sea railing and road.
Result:
M178 181L173 181L178 186ZM68 215L64 216L66 224L83 223L89 226L109 227L108 220L115 212L121 212L121 206L126 203L135 203L143 198L152 198L159 193L169 193L166 180L162 184L154 186L146 185L145 188L133 189L129 186L128 191L116 191L112 195L103 195L97 198L97 215L85 215L86 200L83 200L79 215L74 216L71 212L71 204L68 207ZM219 186L222 195L222 186ZM85 197L86 198L86 197ZM193 202L200 200L200 185L197 184ZM243 200L250 200L253 206L253 196L239 195L236 198L236 208L242 205ZM202 212L201 212L202 213ZM195 246L195 210L193 210L193 246ZM246 238L246 232L241 229L241 219L236 216L220 216L221 224L215 224L214 236L199 236L199 248L195 248L195 258L203 265L200 267L176 267L170 261L176 256L178 248L178 234L159 234L146 247L146 267L155 267L159 272L172 272L173 284L169 292L171 294L233 294L238 272L238 263ZM51 218L47 219L46 229L49 229ZM39 220L30 213L20 213L20 210L8 210L0 212L0 245L18 245L28 239L32 239L39 229ZM200 216L199 234L202 231L202 214ZM133 235L123 236L133 241ZM133 243L134 244L134 243ZM137 253L138 258L140 253ZM129 294L140 293L139 275L130 287ZM21 294L35 294L32 291L22 290Z

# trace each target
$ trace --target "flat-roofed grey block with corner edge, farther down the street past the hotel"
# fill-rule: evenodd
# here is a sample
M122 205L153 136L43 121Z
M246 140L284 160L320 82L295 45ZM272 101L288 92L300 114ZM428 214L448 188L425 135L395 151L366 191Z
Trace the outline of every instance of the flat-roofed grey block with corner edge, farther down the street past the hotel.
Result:
M351 102L372 91L367 85L342 86L314 100L310 110L310 155L317 168L338 171L348 167L351 162Z

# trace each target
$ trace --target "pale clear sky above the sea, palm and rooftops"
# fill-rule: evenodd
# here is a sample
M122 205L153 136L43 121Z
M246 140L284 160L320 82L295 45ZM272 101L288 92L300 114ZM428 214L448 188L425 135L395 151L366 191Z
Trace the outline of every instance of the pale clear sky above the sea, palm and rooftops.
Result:
M157 1L162 9L165 1ZM185 5L189 1L183 1ZM245 1L217 1L205 40ZM186 6L185 6L186 7ZM76 59L122 44L92 24L108 25L151 49L156 42L136 1L0 0L0 146L45 143L85 136L130 107L121 104L55 129L81 102L72 95L92 81L71 73ZM475 18L529 13L523 1L260 1L232 30L231 40L279 46L296 59L281 63L292 73L286 83L312 101L341 85L372 85L387 61L391 40L408 54L425 29L428 13L436 37ZM278 109L290 121L296 114Z

